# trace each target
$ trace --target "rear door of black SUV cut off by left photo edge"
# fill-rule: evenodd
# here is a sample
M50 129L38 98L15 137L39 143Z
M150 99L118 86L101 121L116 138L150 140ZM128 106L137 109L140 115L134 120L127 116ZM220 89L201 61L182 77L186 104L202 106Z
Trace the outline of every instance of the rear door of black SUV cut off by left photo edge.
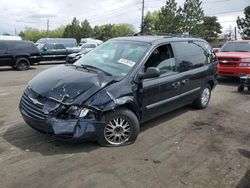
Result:
M13 56L9 53L5 41L0 41L0 66L9 66Z

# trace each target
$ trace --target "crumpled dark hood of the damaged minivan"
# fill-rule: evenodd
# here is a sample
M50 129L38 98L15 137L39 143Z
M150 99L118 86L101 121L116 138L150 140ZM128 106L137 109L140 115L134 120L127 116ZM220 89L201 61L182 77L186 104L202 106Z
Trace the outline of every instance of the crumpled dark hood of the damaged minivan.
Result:
M73 101L79 95L87 100L112 81L104 74L60 65L41 72L29 82L29 87L41 96L60 102Z

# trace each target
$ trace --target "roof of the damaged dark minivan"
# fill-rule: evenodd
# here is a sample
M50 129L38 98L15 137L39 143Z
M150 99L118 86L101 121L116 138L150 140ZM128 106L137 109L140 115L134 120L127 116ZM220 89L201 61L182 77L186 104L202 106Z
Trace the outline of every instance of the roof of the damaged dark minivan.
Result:
M205 41L200 38L195 37L172 37L172 36L131 36L131 37L118 37L111 40L121 40L121 41L135 41L135 42L146 42L150 44L158 44L162 42L171 41L189 41L189 40L199 40Z

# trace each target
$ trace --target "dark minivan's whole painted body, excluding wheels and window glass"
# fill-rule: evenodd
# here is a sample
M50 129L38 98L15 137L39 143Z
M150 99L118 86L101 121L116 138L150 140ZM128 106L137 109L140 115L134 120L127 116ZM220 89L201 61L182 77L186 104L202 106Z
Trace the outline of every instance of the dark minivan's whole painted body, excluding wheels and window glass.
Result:
M178 48L175 44L172 44L175 42L188 44L190 40L204 43L209 50L211 48L204 40L196 38L159 36L117 38L111 42L136 41L149 45L142 60L126 76L110 76L76 65L61 65L46 70L31 80L24 91L20 102L23 119L33 128L58 137L95 139L98 137L100 127L106 123L107 112L126 107L140 122L145 122L190 104L197 98L204 85L210 84L211 88L214 88L217 83L215 57L203 58L205 52L203 47L198 45L195 48L197 45L193 44L195 51L201 50L197 55L200 55L203 58L201 61L204 62L202 65L194 64L188 67L182 59L187 60L193 54L190 57L183 57L182 53L176 52ZM140 73L144 71L159 47L173 49L169 53L172 56L170 65L173 64L174 71L164 72L156 78L140 80ZM87 115L83 118L66 115L71 107L87 109Z

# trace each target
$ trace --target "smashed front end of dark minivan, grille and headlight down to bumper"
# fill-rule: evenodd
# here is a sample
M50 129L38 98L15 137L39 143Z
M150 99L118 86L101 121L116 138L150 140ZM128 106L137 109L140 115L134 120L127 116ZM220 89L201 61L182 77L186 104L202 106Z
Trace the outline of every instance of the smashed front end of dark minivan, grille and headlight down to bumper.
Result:
M104 124L94 109L41 97L30 88L25 90L19 108L31 127L63 139L95 138L98 127Z

